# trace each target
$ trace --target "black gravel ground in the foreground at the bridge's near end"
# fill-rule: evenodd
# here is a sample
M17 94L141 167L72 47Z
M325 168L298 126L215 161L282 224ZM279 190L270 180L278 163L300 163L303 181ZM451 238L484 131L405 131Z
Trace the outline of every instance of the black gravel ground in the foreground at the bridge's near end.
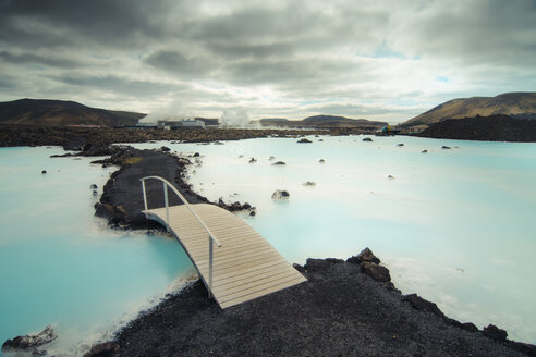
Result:
M305 268L307 283L226 310L196 282L123 329L117 356L524 356L415 309L358 264Z

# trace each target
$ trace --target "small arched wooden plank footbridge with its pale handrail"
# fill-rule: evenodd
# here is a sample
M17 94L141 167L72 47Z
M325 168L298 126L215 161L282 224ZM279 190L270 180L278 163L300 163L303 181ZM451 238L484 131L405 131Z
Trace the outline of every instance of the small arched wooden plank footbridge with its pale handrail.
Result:
M148 209L145 181L163 183L165 207ZM174 235L221 308L306 281L260 234L233 213L208 204L191 205L167 180L142 180L145 216ZM184 205L169 206L168 187ZM216 248L215 248L216 245Z

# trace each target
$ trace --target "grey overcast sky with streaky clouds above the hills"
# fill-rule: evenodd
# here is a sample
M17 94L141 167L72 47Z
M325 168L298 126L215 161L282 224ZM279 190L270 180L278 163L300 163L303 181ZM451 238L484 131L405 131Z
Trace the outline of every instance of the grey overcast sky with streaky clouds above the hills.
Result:
M394 123L535 90L535 0L0 0L0 101Z

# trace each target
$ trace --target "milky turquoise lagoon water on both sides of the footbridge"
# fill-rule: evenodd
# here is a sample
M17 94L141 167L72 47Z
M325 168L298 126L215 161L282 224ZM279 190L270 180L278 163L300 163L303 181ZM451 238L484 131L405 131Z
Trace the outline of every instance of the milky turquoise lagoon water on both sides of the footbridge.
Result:
M243 218L291 262L368 246L403 293L535 343L536 145L362 138L135 146L199 152L194 188L256 206L256 217ZM49 158L62 152L0 149L0 341L52 323L60 338L47 349L73 355L181 286L192 266L172 239L94 218L89 185L100 194L111 170ZM287 165L271 165L278 160ZM290 199L272 200L278 188Z

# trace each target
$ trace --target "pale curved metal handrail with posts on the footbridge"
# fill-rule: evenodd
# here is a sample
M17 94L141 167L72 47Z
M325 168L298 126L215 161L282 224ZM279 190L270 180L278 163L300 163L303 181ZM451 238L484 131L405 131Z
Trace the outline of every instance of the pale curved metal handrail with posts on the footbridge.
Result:
M190 210L192 216L199 222L200 226L208 233L208 297L211 297L212 295L212 242L216 243L218 247L221 247L221 243L218 241L218 238L214 235L214 233L210 231L210 229L203 222L199 216L197 216L196 211L190 206L188 201L186 198L184 198L183 195L176 189L168 180L162 178L160 176L146 176L139 178L142 182L142 190L144 193L144 207L145 210L147 211L147 192L145 189L145 180L148 178L155 178L155 180L160 180L163 185L163 202L166 205L166 224L168 225L168 232L170 230L169 225L169 200L168 200L168 187L171 188L172 192L175 193L175 195L182 200L184 206Z

